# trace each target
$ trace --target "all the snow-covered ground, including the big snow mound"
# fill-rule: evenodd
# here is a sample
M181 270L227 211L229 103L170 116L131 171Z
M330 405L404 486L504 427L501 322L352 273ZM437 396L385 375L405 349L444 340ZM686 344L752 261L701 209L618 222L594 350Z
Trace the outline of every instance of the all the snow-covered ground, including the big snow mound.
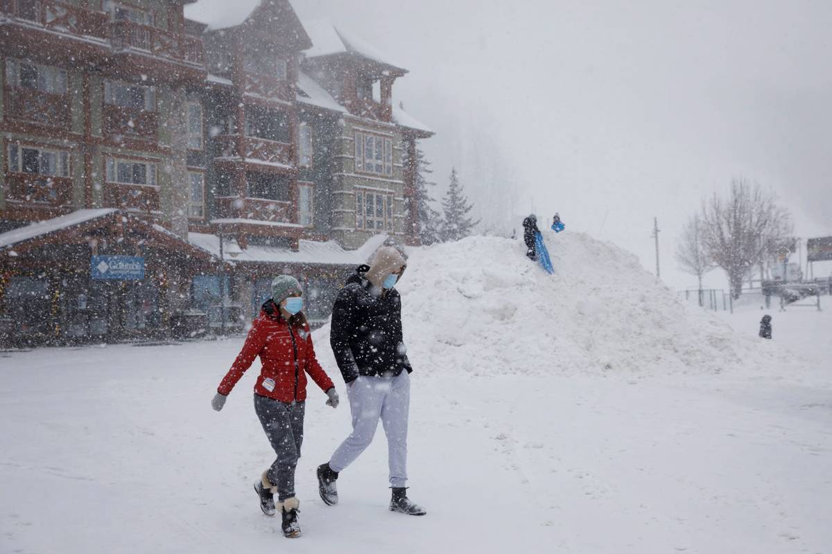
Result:
M626 252L547 241L554 277L503 239L410 257L409 493L428 516L387 511L380 429L321 503L349 407L310 390L287 542L251 487L272 458L257 362L210 409L240 338L42 349L0 354L0 552L830 552L832 305L771 311L763 342L759 310L682 306Z

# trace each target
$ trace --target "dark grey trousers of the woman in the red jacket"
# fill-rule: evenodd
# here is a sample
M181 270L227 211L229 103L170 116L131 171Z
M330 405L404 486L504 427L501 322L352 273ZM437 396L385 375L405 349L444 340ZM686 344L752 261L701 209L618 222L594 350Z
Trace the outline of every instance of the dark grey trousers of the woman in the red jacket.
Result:
M295 496L295 467L304 442L304 402L286 403L255 395L255 412L277 458L266 477L277 485L277 499Z

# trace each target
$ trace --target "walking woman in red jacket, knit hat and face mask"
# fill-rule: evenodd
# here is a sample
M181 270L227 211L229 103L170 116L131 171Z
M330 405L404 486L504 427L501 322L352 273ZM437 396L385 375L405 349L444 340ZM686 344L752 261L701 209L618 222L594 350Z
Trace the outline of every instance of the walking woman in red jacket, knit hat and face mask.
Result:
M255 412L277 458L255 483L260 509L267 516L280 510L285 537L300 537L295 497L295 467L304 439L306 373L338 407L335 385L314 354L310 326L303 311L300 283L289 275L275 277L272 297L251 325L245 345L225 374L211 405L220 411L231 389L259 355L262 368L255 382ZM278 503L275 507L275 494Z

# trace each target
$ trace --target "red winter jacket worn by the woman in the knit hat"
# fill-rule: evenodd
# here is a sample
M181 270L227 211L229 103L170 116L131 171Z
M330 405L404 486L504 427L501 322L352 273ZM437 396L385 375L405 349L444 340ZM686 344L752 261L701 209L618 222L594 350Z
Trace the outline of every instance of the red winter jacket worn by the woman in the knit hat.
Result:
M304 323L290 328L282 317L260 311L216 391L228 395L258 355L263 365L255 384L258 395L281 402L306 400L306 373L324 392L335 386L315 358L309 326ZM267 379L275 381L274 390L269 390L268 381L263 386Z

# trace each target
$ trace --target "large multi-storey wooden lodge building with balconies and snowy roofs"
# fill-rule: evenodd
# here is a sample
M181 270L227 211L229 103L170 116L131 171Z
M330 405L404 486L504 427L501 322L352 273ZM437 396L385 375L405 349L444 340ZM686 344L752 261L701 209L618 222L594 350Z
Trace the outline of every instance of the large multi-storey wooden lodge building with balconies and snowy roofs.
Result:
M239 329L290 272L310 319L414 243L407 72L288 0L0 0L0 341Z

